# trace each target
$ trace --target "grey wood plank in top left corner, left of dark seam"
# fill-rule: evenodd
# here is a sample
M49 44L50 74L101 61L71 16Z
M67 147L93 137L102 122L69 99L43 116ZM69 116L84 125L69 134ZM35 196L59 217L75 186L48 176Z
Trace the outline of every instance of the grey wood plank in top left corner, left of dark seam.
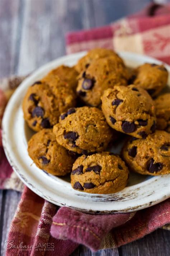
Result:
M18 55L20 0L0 0L0 77L15 72Z

